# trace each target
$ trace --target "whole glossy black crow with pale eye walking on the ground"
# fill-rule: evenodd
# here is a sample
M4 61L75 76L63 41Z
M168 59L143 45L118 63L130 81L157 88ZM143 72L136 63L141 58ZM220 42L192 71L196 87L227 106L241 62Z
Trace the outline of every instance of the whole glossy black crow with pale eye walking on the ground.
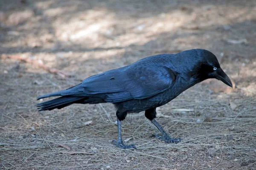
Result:
M38 99L61 97L39 103L37 106L40 111L50 111L74 103L113 103L117 110L118 140L112 142L123 149L136 147L134 144L123 144L121 121L125 119L127 113L145 111L146 118L162 133L162 136L156 135L158 139L167 143L178 143L181 139L171 138L154 119L157 114L156 108L209 78L221 80L232 87L229 77L210 51L192 49L177 54L159 54L140 59L122 68L88 77L79 85L67 90L39 96Z

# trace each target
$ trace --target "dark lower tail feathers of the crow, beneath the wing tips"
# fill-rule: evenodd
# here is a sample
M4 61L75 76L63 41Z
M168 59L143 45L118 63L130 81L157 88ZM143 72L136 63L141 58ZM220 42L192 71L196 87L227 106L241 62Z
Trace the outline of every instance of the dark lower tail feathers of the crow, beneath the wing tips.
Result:
M83 101L86 97L77 97L77 96L61 96L56 99L52 99L46 102L38 103L36 106L39 111L53 110L55 108L61 109L73 103L79 103Z

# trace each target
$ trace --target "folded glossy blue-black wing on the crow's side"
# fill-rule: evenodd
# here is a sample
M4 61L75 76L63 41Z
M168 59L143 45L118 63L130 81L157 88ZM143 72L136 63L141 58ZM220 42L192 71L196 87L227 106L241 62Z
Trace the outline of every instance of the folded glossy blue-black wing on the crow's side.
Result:
M175 78L175 73L165 66L137 65L84 79L72 96L99 96L113 103L146 99L169 89Z

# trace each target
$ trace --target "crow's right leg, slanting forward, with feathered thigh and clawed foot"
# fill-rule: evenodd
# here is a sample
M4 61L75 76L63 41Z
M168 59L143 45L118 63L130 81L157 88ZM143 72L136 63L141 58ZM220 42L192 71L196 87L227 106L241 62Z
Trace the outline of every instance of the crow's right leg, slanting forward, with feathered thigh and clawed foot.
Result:
M157 129L162 133L162 136L159 135L152 135L152 137L156 137L157 139L163 140L166 143L179 143L181 139L175 139L171 138L166 131L163 130L163 127L157 123L157 121L154 119L156 118L157 112L156 108L151 108L145 111L145 116L148 118L156 127Z

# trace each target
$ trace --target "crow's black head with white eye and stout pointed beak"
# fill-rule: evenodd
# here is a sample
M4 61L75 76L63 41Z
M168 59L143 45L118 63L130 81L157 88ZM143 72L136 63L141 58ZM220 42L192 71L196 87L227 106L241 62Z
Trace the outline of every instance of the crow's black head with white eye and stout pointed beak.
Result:
M221 80L232 88L232 82L227 74L221 69L217 57L207 50L195 50L197 56L200 58L200 62L197 63L192 69L192 74L193 77L197 79L196 81L201 82L205 79L215 78Z

